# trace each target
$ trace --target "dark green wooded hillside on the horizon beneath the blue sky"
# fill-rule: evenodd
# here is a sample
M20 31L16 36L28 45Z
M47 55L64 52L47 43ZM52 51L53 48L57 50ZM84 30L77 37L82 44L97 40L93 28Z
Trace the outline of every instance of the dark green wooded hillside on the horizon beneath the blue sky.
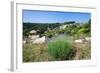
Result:
M58 28L65 24L74 24L75 21L64 22L64 23L23 23L23 35L28 36L29 31L38 30L38 33L43 34L44 31L49 29Z

